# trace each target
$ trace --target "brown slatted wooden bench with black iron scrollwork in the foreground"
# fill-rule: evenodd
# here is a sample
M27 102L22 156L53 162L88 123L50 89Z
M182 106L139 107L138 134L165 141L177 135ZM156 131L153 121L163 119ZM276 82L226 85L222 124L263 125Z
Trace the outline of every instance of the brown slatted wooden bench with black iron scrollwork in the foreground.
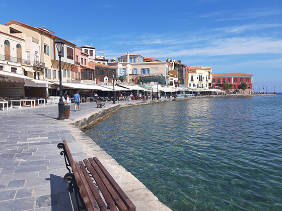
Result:
M65 140L57 147L63 150L60 154L64 156L68 169L68 173L64 175L64 181L69 184L69 192L75 191L79 210L135 211L135 205L98 158L88 158L77 162L74 161Z

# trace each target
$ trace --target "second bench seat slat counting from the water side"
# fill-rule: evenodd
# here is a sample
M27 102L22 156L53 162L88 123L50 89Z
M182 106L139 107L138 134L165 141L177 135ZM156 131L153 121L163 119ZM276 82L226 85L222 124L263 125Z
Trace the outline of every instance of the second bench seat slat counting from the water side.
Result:
M109 193L111 194L114 202L116 203L116 206L122 211L128 210L126 204L124 203L124 201L122 200L120 195L116 192L116 190L111 185L111 183L108 181L108 179L106 178L106 176L103 173L103 171L101 170L101 168L99 168L99 166L93 160L93 158L89 158L88 160L90 161L91 165L96 170L97 174L99 175L99 177L103 181L104 185L107 187L107 189L108 189Z

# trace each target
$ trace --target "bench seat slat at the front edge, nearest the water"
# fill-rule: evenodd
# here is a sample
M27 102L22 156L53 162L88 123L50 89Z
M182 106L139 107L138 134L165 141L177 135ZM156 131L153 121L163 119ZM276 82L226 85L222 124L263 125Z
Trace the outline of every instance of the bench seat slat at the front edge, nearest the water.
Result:
M89 158L90 160L91 158ZM104 175L106 176L107 180L111 183L111 186L115 188L115 191L118 193L119 197L122 199L122 201L125 203L129 211L135 211L136 207L132 203L132 201L128 198L128 196L125 194L125 192L121 189L121 187L116 183L114 178L110 175L110 173L106 170L106 168L103 166L103 164L100 162L100 160L97 157L93 158L95 163L99 166L99 168L103 171ZM92 160L93 160L92 159Z

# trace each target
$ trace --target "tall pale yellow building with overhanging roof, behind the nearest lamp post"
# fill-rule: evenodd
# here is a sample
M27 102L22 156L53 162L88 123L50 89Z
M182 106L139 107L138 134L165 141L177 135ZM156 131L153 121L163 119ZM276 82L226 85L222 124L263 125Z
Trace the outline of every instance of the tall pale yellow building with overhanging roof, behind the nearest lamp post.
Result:
M35 70L35 79L50 81L59 80L59 58L54 41L61 39L54 35L54 32L43 27L32 27L27 24L12 20L5 24L15 29L15 34L26 34L26 57L32 63ZM75 64L75 44L61 39L65 45L62 52L61 68L62 81L66 82L72 78L72 69Z

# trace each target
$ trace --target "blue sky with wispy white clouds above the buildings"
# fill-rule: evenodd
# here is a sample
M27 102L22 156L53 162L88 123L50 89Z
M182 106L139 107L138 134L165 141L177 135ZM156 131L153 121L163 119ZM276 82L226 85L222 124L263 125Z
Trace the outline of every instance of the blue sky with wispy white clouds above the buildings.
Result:
M59 7L60 9L57 9ZM282 92L282 2L0 1L1 24L45 26L106 58L127 51L213 72L254 74L254 87Z

